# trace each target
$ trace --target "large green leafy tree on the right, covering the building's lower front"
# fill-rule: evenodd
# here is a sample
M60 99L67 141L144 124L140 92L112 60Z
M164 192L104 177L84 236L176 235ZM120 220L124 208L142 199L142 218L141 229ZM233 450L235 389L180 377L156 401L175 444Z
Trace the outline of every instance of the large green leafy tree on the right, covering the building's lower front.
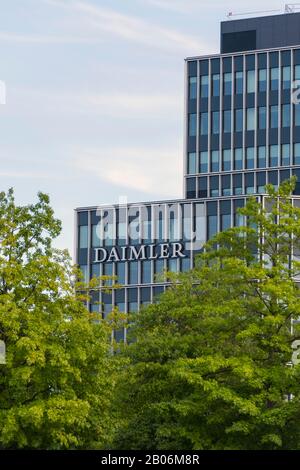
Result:
M144 309L126 347L115 447L299 449L300 209L295 180L241 209L196 268Z

